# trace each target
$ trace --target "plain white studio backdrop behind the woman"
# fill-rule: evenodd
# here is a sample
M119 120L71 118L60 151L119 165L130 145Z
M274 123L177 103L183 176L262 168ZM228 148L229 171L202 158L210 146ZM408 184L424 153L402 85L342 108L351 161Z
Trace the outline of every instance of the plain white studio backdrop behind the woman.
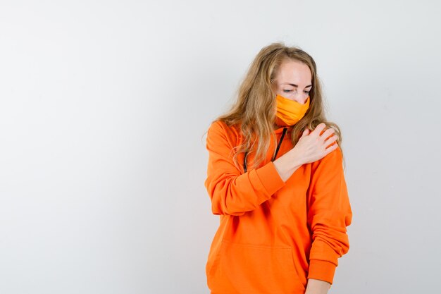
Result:
M439 1L1 1L0 293L203 294L204 133L271 42L315 59L354 213L329 293L435 293ZM252 293L250 293L252 294Z

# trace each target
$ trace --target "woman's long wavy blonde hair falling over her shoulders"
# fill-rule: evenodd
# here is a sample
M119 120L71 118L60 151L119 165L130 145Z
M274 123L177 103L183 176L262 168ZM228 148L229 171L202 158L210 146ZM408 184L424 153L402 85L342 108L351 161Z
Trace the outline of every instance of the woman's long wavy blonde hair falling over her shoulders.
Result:
M275 130L275 114L277 102L273 91L273 82L283 61L300 61L311 70L312 87L309 91L309 109L304 117L292 126L291 141L295 146L302 136L305 128L313 130L320 123L325 123L326 128L334 128L337 135L337 144L340 149L342 136L337 124L327 121L321 90L321 82L317 75L317 66L313 58L299 47L287 47L282 42L276 42L263 47L254 58L247 74L237 89L237 99L229 111L218 116L212 123L223 121L228 126L235 126L243 136L242 144L235 147L233 161L240 169L237 154L254 152L257 141L254 161L249 164L249 170L265 160L270 146L271 135ZM325 129L326 129L325 128ZM276 137L273 136L274 146L277 145ZM275 150L274 150L275 154ZM274 155L273 154L273 155ZM247 161L248 163L248 161Z

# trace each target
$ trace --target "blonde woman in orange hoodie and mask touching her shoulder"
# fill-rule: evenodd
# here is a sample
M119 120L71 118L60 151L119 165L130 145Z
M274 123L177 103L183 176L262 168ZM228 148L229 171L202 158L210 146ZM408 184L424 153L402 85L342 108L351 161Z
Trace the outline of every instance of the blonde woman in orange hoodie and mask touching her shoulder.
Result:
M340 143L312 57L261 49L206 138L211 294L328 293L352 221Z

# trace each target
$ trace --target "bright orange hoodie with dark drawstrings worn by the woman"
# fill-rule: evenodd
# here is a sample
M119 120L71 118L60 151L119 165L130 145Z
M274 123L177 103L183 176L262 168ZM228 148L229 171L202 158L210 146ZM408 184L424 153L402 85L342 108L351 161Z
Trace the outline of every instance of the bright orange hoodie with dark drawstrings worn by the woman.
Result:
M277 142L282 132L275 130ZM220 215L206 262L211 294L300 294L307 278L333 283L337 259L349 250L352 221L340 147L284 182L271 161L273 141L266 161L247 172L232 161L241 142L238 128L221 121L207 133L204 185L211 211ZM287 131L276 158L292 147ZM242 163L244 154L237 158Z

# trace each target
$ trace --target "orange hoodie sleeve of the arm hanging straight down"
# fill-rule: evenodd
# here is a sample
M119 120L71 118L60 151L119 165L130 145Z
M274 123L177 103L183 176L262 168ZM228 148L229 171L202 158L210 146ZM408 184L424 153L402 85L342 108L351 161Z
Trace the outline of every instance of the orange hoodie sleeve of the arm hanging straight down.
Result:
M349 251L346 227L352 222L342 152L333 152L312 165L308 226L312 232L308 278L333 283L337 259Z

